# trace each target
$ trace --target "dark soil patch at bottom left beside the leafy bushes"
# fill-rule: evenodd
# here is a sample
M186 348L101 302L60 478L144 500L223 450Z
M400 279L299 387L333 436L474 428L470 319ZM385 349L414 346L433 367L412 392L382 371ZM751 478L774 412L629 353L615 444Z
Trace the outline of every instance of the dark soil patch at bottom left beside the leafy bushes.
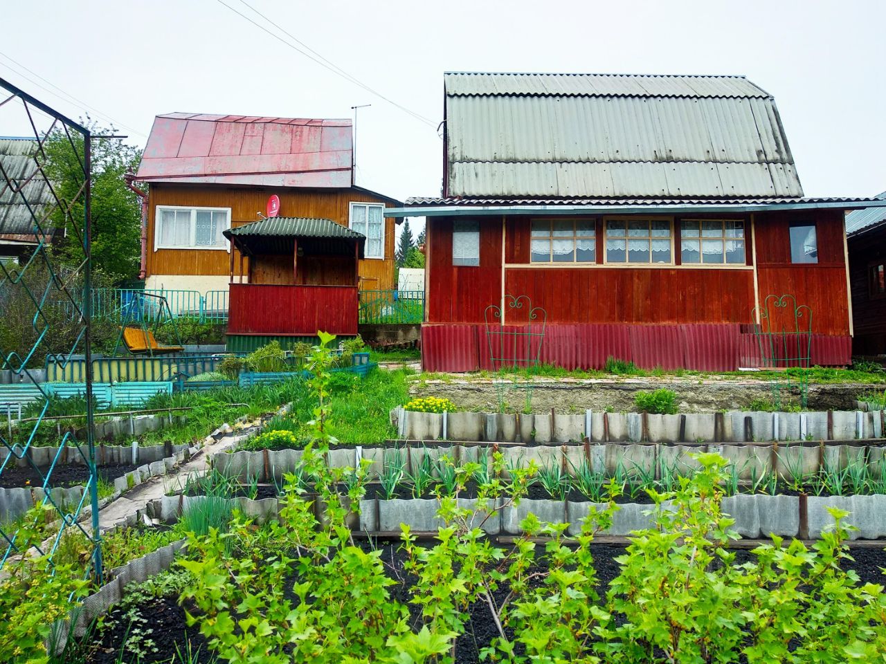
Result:
M95 648L86 664L166 664L176 655L176 646L187 655L189 641L190 652L199 649L199 653L195 659L184 661L211 664L212 652L208 652L199 623L188 627L184 608L178 606L178 598L165 597L148 599L126 614L120 608L112 609L105 618L107 626L94 637ZM193 614L195 607L188 608ZM145 633L148 629L152 631ZM125 653L120 659L121 650ZM143 653L141 659L138 651Z

